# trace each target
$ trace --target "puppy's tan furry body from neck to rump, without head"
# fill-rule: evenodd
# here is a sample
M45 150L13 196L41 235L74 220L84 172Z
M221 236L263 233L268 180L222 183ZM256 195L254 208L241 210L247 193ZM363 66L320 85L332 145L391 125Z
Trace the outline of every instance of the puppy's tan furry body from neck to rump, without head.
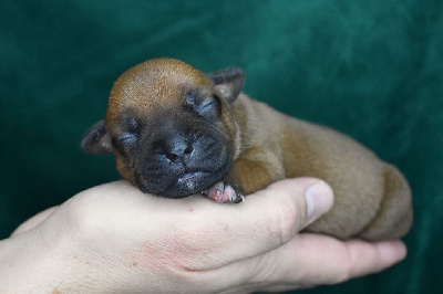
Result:
M256 179L248 193L266 187L269 178L317 177L331 185L334 204L306 231L380 240L400 238L410 230L412 207L408 182L372 151L340 133L287 117L246 95L240 95L235 108L245 150L257 150L253 158L274 166L268 169L274 177L256 176L255 164L247 166L240 155L235 162L241 162L241 172L235 177L246 182ZM284 171L279 162L284 162ZM265 172L259 169L258 174Z

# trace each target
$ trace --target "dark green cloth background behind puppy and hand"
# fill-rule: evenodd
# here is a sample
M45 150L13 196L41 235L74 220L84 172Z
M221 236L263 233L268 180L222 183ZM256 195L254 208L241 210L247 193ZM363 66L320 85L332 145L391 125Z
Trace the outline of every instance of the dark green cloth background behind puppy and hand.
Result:
M443 291L441 0L1 1L0 239L119 178L79 141L115 78L157 56L243 66L250 96L357 138L410 180L408 259L307 292Z

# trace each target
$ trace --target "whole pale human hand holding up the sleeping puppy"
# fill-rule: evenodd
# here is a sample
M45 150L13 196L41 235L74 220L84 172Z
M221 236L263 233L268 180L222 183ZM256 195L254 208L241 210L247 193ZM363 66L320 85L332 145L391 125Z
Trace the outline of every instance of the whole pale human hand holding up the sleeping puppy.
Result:
M319 189L307 201L309 187ZM330 188L308 178L279 181L240 204L106 183L1 241L0 284L18 293L285 291L340 283L405 256L400 241L298 233L331 204Z

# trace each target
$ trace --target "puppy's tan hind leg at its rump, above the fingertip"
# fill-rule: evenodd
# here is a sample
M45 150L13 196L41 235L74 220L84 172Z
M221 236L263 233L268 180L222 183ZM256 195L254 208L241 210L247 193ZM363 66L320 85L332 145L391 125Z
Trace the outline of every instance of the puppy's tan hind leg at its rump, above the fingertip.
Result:
M384 195L372 222L358 237L367 240L401 238L412 225L411 189L403 175L391 165L384 171Z

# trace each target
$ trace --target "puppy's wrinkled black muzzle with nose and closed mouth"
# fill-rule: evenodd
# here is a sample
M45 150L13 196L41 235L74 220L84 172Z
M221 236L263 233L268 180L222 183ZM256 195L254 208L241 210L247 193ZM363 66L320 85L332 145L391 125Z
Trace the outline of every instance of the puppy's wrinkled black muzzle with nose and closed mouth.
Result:
M135 167L138 187L169 198L208 188L227 172L230 162L223 140L209 134L163 134L145 153Z

